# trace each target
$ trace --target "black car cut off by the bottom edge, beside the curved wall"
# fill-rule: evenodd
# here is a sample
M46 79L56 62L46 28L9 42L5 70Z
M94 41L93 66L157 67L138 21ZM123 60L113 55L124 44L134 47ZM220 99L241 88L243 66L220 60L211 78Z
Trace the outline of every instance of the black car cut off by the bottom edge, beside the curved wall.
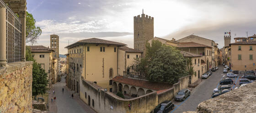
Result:
M168 113L173 108L174 104L169 100L165 100L163 103L160 103L155 107L153 113Z

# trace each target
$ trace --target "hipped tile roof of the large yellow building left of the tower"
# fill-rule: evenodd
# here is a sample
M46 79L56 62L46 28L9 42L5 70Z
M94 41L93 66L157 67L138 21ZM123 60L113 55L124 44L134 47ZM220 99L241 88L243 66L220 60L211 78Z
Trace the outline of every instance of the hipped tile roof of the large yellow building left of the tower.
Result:
M107 40L98 39L98 38L89 38L89 39L77 41L77 42L75 42L75 43L73 43L69 46L66 46L65 48L69 48L69 47L72 47L72 46L78 46L79 44L83 44L83 43L126 46L126 44L115 42L115 41L107 41Z

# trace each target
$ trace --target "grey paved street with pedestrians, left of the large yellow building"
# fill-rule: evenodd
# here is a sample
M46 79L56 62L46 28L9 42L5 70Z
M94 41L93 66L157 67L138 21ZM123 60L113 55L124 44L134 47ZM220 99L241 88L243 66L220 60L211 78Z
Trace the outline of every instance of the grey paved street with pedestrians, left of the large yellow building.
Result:
M62 88L64 87L64 93L62 93ZM51 103L51 95L55 90L56 100ZM74 98L71 98L71 94L74 93ZM62 77L60 82L53 85L51 92L49 94L49 113L96 113L85 104L80 98L78 93L75 91L70 91L66 87L65 76ZM53 96L54 97L54 96Z

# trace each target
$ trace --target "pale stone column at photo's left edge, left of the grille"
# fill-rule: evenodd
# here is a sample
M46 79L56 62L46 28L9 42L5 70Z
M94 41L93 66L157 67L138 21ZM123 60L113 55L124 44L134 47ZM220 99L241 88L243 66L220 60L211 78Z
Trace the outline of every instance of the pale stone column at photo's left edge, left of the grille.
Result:
M0 4L0 67L5 67L6 60L6 19L5 7Z

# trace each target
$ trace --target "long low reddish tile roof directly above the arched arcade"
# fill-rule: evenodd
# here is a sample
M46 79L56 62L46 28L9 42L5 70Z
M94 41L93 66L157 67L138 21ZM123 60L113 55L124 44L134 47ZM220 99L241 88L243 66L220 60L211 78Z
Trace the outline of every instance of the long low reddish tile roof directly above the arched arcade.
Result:
M112 78L112 81L121 82L137 87L144 87L153 90L163 90L169 89L172 87L172 84L169 83L160 83L160 82L150 82L145 80L137 80L133 78L123 77L123 76L116 76Z

